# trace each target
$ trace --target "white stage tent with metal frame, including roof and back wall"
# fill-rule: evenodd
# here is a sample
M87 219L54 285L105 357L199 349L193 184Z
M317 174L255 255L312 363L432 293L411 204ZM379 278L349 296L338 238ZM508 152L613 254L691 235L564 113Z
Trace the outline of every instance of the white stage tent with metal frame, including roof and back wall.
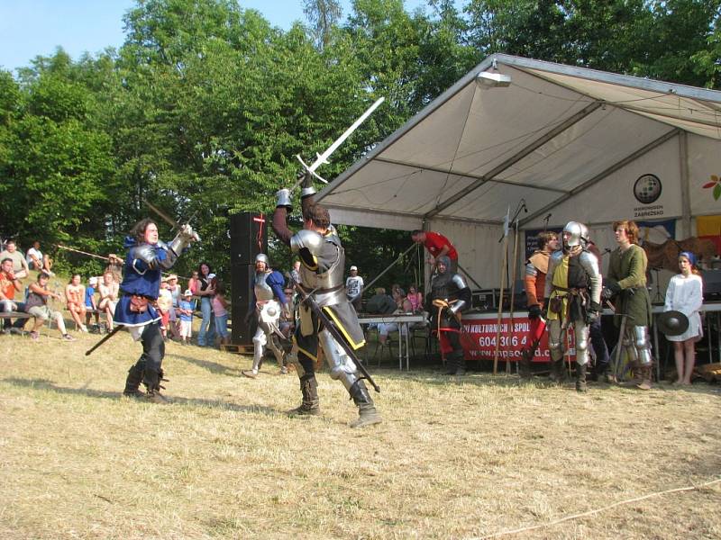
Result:
M442 232L497 286L497 240L522 200L521 229L550 213L549 226L580 220L612 247L613 220L675 219L686 238L692 217L721 214L712 175L721 92L494 55L318 198L336 223Z

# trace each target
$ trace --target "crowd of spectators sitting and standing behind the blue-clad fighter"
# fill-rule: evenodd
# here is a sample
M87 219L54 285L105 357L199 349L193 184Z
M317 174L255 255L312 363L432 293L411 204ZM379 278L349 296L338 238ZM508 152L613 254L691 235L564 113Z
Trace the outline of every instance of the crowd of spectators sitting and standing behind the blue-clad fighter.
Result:
M42 325L50 320L64 340L74 340L68 333L64 312L79 332L113 331L115 306L123 280L122 258L110 254L103 275L89 276L84 284L83 276L76 273L68 284L60 287L57 283L50 286L50 278L54 276L50 270L52 259L42 253L40 242L33 242L24 254L13 239L5 241L2 247L0 312L4 313L3 333L23 334L29 321L33 320L30 337L37 339ZM31 272L37 272L36 280L23 286L23 280L31 277ZM196 303L194 297L200 302ZM227 344L230 342L228 307L224 285L217 281L206 263L193 272L185 291L178 284L178 275L169 275L163 278L158 297L163 337L189 344L194 312L199 309L203 320L198 345L213 346L215 335L221 344Z

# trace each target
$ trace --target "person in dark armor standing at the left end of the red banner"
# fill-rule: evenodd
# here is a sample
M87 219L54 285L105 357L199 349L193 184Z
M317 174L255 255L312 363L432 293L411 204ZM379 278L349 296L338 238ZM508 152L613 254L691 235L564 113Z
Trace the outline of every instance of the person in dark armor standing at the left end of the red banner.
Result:
M426 311L431 313L431 328L436 329L441 352L446 359L446 374L466 374L466 359L461 347L461 312L470 307L470 289L460 274L452 271L450 257L437 260L437 273L431 280Z

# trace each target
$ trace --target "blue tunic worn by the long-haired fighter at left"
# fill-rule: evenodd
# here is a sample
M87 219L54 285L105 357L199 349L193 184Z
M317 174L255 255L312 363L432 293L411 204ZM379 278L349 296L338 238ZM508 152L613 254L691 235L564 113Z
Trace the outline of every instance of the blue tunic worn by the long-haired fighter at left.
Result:
M158 244L136 244L132 238L125 238L125 247L129 247L128 255L125 257L123 267L123 283L120 290L123 291L117 307L115 308L114 321L128 327L141 327L156 320L160 320L160 313L148 304L148 310L143 313L136 313L130 310L131 295L137 294L154 301L160 293L160 280L162 275L160 267L151 267L144 259L138 258L140 247L151 248L153 254L159 261L168 257L168 247L159 242Z

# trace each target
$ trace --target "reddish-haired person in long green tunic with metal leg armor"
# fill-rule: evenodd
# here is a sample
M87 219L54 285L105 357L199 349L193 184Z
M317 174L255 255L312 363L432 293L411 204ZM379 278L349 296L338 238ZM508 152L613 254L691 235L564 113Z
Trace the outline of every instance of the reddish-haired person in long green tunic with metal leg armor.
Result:
M628 316L624 335L619 338L634 369L634 385L651 389L653 358L649 326L651 297L646 288L648 257L638 245L638 226L634 221L615 221L614 233L618 247L611 252L604 295L616 306L616 326L621 314Z

